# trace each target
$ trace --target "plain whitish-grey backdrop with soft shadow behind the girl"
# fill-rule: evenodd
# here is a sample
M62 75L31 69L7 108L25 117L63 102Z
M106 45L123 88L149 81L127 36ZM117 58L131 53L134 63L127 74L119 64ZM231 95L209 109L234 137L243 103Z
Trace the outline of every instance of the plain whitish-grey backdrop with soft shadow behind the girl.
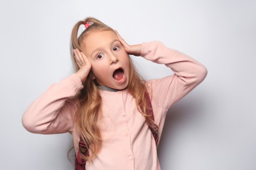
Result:
M207 78L169 110L163 170L256 169L256 1L0 1L0 169L74 169L72 136L22 127L28 105L72 73L73 25L94 16L130 44L162 41L203 63ZM172 74L135 58L146 79Z

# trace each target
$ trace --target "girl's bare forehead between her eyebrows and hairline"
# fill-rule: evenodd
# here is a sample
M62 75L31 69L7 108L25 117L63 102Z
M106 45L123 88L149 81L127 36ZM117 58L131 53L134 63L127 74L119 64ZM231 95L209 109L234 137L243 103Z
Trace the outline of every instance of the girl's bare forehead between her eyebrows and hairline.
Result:
M82 46L86 53L90 53L96 48L110 45L114 40L118 40L114 31L91 31L83 40Z

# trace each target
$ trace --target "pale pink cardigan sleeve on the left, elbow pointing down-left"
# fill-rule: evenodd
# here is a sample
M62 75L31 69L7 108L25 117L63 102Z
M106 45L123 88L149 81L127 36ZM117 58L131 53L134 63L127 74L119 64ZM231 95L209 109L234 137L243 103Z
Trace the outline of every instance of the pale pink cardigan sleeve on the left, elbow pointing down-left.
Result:
M32 133L66 133L74 128L75 95L83 88L75 74L51 85L28 107L23 126Z

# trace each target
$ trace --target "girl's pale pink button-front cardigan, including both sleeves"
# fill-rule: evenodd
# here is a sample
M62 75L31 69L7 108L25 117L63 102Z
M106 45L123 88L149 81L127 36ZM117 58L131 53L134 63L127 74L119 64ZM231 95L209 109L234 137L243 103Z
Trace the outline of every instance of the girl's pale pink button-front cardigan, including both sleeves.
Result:
M165 64L175 73L146 82L161 137L169 107L200 84L207 70L198 61L165 47L161 42L142 43L141 56ZM77 152L79 131L74 125L74 97L82 89L81 80L74 74L53 84L28 107L22 118L24 127L32 133L70 132ZM127 90L100 90L100 95L103 116L98 120L98 126L103 143L98 156L87 161L86 169L160 169L156 143L144 117L137 110L135 99Z

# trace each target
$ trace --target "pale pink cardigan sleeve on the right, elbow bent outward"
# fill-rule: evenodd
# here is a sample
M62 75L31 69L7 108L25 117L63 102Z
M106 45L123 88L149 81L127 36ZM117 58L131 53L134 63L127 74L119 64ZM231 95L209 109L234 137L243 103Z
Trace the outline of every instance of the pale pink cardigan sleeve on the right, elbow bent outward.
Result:
M152 89L152 102L165 110L198 86L207 75L207 69L201 63L158 41L142 43L141 56L165 64L174 72L171 76L148 83Z

